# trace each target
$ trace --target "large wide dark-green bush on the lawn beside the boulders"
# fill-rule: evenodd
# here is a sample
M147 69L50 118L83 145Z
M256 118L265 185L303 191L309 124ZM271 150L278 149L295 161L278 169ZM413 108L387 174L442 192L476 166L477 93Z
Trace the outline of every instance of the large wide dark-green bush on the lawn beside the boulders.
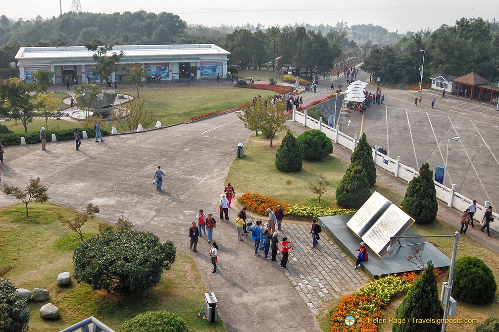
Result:
M108 231L74 250L74 278L95 290L142 292L156 286L177 249L150 232Z

